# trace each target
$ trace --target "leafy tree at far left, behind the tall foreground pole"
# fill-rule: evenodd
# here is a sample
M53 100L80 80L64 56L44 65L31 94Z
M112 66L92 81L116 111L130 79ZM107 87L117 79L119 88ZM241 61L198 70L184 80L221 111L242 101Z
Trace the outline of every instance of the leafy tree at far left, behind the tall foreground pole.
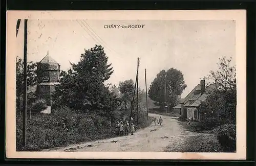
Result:
M36 63L27 63L27 86L36 85ZM21 58L16 57L16 106L20 107L20 97L23 95L24 84L24 62Z

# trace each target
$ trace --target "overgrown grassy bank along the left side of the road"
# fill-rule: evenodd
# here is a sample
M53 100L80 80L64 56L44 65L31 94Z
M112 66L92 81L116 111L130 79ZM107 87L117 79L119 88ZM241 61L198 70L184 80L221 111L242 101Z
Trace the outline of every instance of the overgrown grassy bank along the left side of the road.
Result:
M65 117L65 118L64 118ZM88 116L79 115L36 115L27 121L27 146L22 147L22 116L16 117L16 150L17 151L41 151L57 147L66 147L74 144L86 143L89 141L101 140L116 137L116 128L110 127L104 121L95 125ZM136 125L136 130L150 125L152 118L141 121ZM97 123L96 123L97 124Z

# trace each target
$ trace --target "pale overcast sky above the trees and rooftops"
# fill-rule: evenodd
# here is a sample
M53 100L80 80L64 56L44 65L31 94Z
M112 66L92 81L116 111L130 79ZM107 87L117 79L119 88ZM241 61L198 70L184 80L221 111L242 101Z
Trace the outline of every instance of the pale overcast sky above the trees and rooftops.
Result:
M104 25L145 25L141 29L105 29ZM233 57L235 64L236 23L234 21L182 20L28 20L28 61L40 61L47 55L62 70L77 63L84 49L103 45L114 73L108 82L117 84L135 80L140 58L139 86L147 88L162 69L179 69L187 88L184 98L218 59ZM17 56L23 57L24 21L17 36Z

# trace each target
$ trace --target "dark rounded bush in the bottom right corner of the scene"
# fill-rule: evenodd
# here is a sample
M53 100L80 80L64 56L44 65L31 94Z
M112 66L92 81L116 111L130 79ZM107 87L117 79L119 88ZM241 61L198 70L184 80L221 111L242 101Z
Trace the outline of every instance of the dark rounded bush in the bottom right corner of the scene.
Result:
M223 152L236 152L236 125L225 124L214 129Z

